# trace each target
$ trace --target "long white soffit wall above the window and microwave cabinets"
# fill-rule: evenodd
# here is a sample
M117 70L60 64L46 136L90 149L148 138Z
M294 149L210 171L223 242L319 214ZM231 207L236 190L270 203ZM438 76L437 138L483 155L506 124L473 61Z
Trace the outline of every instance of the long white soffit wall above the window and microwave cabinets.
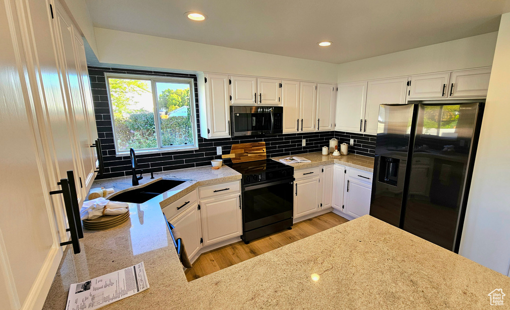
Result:
M335 64L95 28L101 63L337 82Z

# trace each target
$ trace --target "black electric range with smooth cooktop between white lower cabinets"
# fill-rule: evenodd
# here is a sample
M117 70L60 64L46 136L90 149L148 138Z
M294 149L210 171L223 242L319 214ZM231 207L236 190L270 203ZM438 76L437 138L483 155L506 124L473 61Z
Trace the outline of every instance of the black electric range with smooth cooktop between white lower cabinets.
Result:
M267 159L226 164L241 180L244 243L291 229L294 215L294 168Z

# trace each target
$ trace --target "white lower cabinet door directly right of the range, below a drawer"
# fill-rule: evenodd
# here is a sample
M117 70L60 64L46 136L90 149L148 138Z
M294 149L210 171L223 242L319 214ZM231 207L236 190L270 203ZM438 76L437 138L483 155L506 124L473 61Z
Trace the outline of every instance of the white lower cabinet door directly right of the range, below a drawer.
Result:
M322 196L319 177L295 181L294 187L294 219L317 212Z

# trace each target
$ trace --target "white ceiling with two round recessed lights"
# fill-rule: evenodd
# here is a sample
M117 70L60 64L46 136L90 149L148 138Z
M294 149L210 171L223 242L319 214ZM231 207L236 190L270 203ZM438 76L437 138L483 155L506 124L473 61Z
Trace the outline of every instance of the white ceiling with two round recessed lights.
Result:
M497 31L510 12L510 0L86 2L99 28L337 64ZM188 11L208 18L189 20Z

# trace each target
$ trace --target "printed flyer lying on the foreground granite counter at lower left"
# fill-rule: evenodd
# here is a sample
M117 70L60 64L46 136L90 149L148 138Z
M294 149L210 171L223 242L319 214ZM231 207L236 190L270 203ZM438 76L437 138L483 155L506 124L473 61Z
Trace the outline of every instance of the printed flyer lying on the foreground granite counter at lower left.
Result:
M149 288L143 262L71 284L66 310L93 310Z

